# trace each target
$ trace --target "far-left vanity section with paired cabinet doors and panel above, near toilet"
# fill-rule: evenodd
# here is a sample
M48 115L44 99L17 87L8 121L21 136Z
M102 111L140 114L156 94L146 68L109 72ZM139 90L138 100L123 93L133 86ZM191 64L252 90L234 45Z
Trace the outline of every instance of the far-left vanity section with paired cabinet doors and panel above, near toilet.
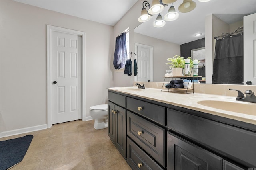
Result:
M120 98L126 98L120 94L114 94L113 96L116 97L110 97L113 102ZM125 106L125 103L120 103L120 100L118 102ZM108 101L108 136L122 156L126 158L126 109L110 101Z

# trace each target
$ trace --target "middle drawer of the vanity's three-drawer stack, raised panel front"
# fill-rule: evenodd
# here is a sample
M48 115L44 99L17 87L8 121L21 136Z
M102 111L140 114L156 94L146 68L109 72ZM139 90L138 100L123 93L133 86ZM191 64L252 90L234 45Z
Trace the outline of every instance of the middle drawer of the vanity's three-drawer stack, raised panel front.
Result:
M127 111L127 135L165 167L165 129Z

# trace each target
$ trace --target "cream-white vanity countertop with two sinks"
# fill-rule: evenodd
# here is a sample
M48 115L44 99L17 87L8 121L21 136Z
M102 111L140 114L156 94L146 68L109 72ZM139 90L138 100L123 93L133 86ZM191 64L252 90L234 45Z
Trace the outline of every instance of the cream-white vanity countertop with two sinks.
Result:
M251 123L256 125L256 104L249 103L249 102L236 101L236 97L213 95L213 94L202 94L202 93L181 94L176 92L168 92L167 90L163 90L161 92L161 89L157 89L157 88L138 89L138 86L115 87L115 88L108 88L108 89L116 92L121 92L124 94L130 94L133 96L154 100L157 102L184 107L187 109L201 111L204 113L209 113L212 115L226 117L229 119L235 119L238 121L243 121L246 123ZM210 100L210 101L217 100L223 103L228 102L227 104L238 106L238 108L246 114L241 113L239 109L236 110L232 107L228 108L228 106L227 107L224 106L224 109L225 109L224 110L224 109L216 109L213 107L208 107L202 104L198 104L199 101L203 101L203 100Z

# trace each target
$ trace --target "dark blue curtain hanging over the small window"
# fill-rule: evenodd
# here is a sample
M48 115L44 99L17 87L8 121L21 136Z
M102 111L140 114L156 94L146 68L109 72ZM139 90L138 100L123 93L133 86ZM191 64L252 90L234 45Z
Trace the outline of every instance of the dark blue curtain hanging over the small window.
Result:
M124 68L127 59L126 51L126 33L122 33L116 37L116 49L114 53L114 67L115 69Z

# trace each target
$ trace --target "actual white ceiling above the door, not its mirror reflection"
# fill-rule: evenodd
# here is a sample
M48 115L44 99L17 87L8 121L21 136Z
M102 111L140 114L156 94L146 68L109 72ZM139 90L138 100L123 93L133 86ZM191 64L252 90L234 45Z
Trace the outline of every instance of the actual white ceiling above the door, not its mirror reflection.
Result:
M138 0L14 0L114 26Z

